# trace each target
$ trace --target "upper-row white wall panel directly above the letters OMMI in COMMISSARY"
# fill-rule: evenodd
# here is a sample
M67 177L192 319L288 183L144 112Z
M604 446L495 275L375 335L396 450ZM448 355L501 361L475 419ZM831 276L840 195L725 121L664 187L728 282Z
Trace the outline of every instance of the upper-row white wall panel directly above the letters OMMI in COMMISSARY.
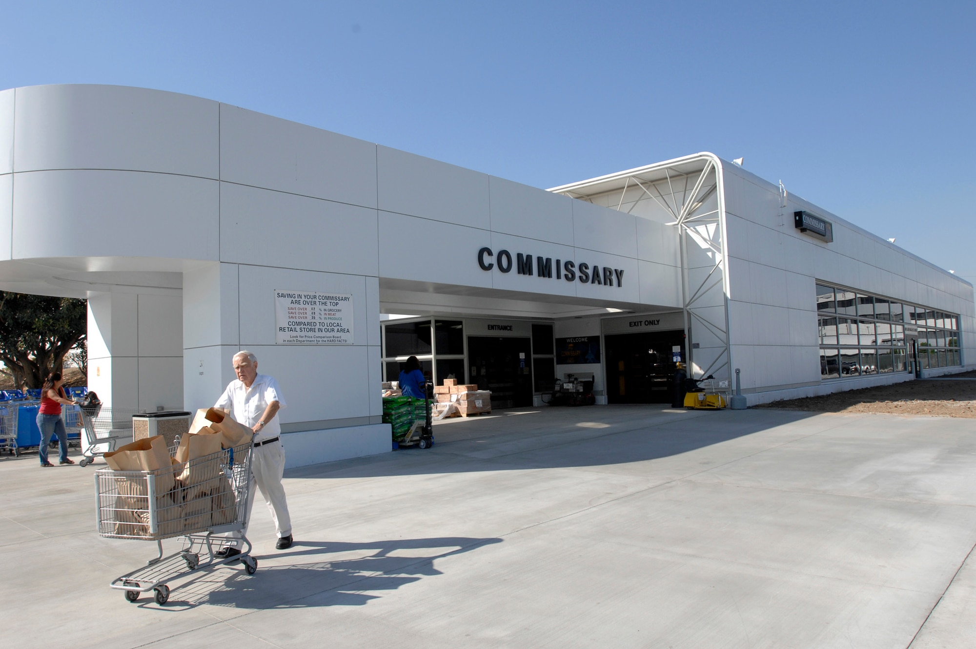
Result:
M492 232L573 245L573 203L579 201L494 176L489 188Z

